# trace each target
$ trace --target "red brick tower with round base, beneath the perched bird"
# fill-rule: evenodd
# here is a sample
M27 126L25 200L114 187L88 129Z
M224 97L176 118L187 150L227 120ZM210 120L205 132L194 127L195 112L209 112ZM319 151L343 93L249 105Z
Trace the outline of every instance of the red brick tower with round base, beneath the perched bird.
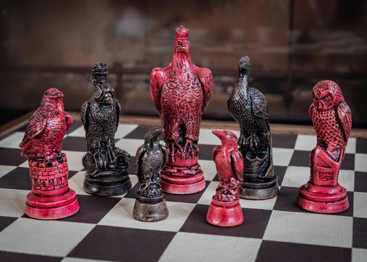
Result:
M35 219L61 219L79 210L76 193L69 188L67 159L62 153L60 161L29 160L32 192L27 195L25 214Z

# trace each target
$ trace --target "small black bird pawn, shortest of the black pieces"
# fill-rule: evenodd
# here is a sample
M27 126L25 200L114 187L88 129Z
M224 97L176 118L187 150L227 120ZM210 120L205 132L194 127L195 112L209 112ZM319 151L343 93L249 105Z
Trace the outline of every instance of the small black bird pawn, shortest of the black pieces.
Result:
M167 162L165 146L159 144L163 129L153 127L145 133L145 142L136 151L135 166L140 188L133 217L140 221L159 221L168 217L166 201L160 188L159 173Z

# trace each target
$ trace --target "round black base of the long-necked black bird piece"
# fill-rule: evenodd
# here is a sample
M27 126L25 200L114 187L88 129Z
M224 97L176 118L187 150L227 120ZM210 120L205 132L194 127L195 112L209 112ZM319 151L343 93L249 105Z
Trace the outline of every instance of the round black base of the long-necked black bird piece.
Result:
M242 182L240 188L240 197L244 199L262 200L276 197L279 193L279 186L277 184L277 177L268 181L260 179L249 179Z

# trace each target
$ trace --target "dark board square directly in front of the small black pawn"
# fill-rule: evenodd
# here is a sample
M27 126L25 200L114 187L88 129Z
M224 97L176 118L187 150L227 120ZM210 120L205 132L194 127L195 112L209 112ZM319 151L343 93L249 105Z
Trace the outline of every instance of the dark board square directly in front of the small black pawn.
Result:
M175 232L96 226L68 256L111 261L158 261ZM136 248L141 252L136 252Z

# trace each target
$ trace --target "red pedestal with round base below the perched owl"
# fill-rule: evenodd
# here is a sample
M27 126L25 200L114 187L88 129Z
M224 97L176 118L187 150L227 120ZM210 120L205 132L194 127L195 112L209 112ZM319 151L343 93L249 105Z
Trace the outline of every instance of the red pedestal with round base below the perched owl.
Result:
M300 187L297 205L319 213L337 213L348 209L346 188L337 182L342 157L335 162L317 145L311 151L310 160L310 181Z

